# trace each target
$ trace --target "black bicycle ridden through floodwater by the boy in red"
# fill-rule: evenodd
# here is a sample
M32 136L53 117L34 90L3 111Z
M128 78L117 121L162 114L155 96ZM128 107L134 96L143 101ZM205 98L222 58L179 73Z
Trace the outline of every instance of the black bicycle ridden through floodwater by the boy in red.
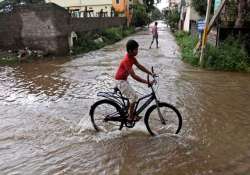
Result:
M152 67L152 72L154 72ZM152 76L155 84L157 84L156 77ZM148 75L149 82L149 75ZM139 116L152 101L155 104L151 105L144 117L144 123L148 132L154 136L171 131L171 133L178 134L182 127L182 117L180 112L171 104L160 102L156 96L153 85L149 85L152 92L138 99L134 109L134 115L139 118L134 121L132 126L128 125L128 107L129 99L124 97L121 91L115 87L113 92L99 92L97 96L104 97L100 101L95 102L90 109L89 115L91 122L96 131L106 130L122 130L123 127L133 128L142 117ZM148 99L147 99L148 98ZM139 104L142 100L147 99L140 107ZM99 111L100 110L100 111ZM106 110L107 113L102 114Z

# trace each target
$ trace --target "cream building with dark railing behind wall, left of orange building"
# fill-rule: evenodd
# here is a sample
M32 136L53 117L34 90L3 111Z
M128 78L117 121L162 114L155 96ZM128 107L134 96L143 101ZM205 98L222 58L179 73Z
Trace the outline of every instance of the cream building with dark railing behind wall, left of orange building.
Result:
M112 0L46 0L68 9L74 17L108 17Z

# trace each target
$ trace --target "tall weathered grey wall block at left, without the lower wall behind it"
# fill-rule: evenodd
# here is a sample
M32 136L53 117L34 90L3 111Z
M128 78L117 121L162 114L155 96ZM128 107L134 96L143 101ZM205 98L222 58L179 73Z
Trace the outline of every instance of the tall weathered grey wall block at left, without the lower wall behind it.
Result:
M68 52L67 26L70 16L53 4L25 6L0 14L0 48L29 47L55 55ZM65 30L66 29L66 30Z

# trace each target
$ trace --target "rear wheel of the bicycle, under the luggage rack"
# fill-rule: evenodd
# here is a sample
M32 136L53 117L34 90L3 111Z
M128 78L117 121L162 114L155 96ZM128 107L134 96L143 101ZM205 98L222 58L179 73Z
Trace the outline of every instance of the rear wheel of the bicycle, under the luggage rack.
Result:
M90 117L96 131L112 132L122 125L121 108L111 100L104 99L94 103L90 109Z

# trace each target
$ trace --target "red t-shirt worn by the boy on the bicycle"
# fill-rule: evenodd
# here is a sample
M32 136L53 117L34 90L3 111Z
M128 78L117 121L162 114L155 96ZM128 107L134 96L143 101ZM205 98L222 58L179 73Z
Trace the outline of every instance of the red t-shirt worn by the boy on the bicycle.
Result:
M136 58L134 56L129 56L128 54L121 60L118 70L115 74L116 80L127 80L129 76L129 71L132 69L133 64L136 63Z

